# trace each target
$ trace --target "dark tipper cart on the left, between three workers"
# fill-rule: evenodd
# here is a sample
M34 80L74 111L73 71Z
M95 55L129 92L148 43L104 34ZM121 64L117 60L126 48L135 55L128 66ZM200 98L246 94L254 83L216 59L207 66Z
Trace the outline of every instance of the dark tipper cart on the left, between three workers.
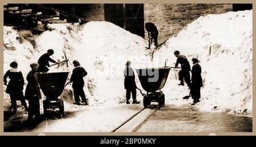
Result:
M46 100L43 101L44 114L48 115L49 109L59 108L59 113L64 115L64 103L60 94L63 92L69 72L42 73L38 76L39 85Z

